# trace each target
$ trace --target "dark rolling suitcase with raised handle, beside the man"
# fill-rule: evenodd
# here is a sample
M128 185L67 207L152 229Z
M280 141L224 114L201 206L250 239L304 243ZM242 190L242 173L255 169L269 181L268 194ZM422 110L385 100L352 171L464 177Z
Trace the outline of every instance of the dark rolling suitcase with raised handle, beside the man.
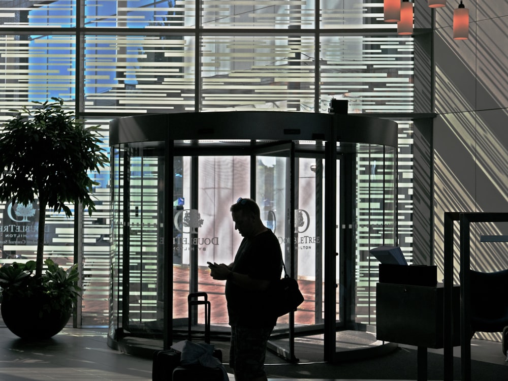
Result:
M200 299L202 297L203 299ZM200 345L194 343L194 348L203 351L212 351L212 356L216 359L216 366L208 364L204 366L199 363L198 359L195 362L189 361L185 354L182 356L182 364L174 368L173 381L224 381L228 379L227 373L222 366L222 352L215 349L210 345L210 301L204 292L191 293L188 296L188 341L192 342L192 310L193 306L203 305L205 309L205 333L204 344ZM213 363L213 362L211 362Z

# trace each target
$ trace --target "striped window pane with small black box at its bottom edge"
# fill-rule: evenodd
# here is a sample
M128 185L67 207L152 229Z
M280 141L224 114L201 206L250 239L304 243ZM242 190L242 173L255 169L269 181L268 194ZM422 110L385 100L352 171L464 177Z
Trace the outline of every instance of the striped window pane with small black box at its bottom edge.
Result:
M412 38L325 36L321 40L321 111L331 98L350 113L412 112Z

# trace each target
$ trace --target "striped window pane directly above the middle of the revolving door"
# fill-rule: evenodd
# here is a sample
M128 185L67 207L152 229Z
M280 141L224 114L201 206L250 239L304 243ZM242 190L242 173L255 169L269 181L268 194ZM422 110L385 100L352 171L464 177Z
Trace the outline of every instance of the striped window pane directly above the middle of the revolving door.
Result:
M203 109L312 111L311 37L204 37Z

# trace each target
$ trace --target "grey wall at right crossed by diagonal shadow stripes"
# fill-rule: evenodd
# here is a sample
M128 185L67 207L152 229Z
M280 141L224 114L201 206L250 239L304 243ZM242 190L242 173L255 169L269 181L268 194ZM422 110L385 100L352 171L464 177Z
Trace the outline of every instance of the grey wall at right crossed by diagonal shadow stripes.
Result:
M442 265L446 211L508 212L508 1L465 0L469 39L452 38L453 8L436 10L434 261ZM458 226L456 242L458 243ZM471 268L508 268L508 243L480 243L508 234L508 224L475 224ZM458 263L458 244L456 261ZM456 270L458 278L458 270Z

